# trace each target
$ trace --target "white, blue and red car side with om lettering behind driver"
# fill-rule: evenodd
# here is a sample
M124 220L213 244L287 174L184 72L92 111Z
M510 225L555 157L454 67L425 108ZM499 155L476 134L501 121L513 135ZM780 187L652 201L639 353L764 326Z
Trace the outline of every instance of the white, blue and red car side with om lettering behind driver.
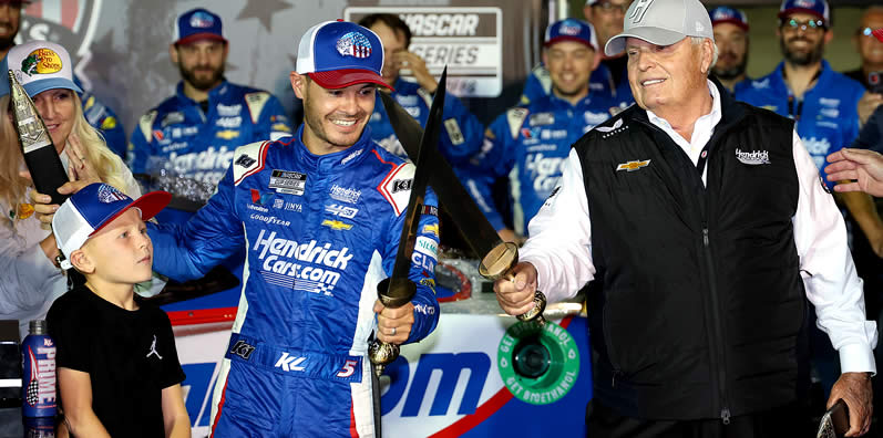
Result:
M173 324L186 321L171 316ZM442 313L435 332L403 346L381 377L383 434L584 437L592 397L586 320L559 323L540 328L513 317ZM175 326L194 437L209 432L229 328L229 322Z

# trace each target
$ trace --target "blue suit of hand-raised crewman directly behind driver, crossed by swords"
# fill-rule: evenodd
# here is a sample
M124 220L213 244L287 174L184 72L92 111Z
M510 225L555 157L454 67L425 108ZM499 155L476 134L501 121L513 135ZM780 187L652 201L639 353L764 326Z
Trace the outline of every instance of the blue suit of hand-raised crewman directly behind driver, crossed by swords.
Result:
M414 82L408 82L402 79L396 81L396 91L392 92L392 97L399 102L412 117L414 117L420 126L427 125L429 117L429 108L432 105L432 95ZM378 93L382 93L378 91ZM456 96L451 93L444 97L443 124L441 129L441 138L439 142L439 150L453 166L460 163L465 163L469 157L475 155L481 149L483 140L481 122L472 115L472 113L463 106ZM371 127L372 138L379 143L387 150L407 158L404 149L401 147L396 133L392 131L392 125L389 123L387 109L377 96L374 102L374 112L368 122Z

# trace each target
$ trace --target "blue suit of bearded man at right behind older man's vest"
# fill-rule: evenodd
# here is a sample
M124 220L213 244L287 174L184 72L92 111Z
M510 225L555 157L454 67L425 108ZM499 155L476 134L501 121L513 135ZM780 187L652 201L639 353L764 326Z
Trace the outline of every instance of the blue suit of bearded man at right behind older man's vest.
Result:
M831 188L834 182L826 179L824 157L848 147L859 135L858 105L864 87L822 61L815 85L807 90L801 102L784 82L783 65L779 63L763 77L737 84L736 100L794 118L798 135Z

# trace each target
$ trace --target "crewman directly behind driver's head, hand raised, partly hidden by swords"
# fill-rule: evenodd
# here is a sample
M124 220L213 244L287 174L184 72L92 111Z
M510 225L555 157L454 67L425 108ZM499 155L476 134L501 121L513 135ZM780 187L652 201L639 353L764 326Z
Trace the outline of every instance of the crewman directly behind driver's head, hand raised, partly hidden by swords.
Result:
M396 90L391 92L392 97L420 123L420 126L425 126L432 95L439 84L430 74L423 59L408 50L411 44L411 30L408 24L398 15L390 13L366 15L359 20L359 24L377 33L383 43L383 50L387 51L387 60L383 63L383 82ZM399 77L401 69L410 70L417 83ZM442 114L444 124L442 125L439 150L452 165L465 163L481 148L484 126L456 96L450 93L444 98ZM400 157L407 157L392 131L387 109L380 102L379 95L368 126L371 127L371 137L380 146Z

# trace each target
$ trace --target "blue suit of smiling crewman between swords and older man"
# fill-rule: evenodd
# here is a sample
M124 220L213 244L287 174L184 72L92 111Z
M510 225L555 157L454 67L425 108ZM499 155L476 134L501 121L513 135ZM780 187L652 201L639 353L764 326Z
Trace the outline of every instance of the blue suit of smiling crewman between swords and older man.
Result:
M527 222L558 182L571 145L623 107L589 93L576 105L551 94L510 108L491 124L482 152L460 167L459 176L494 229L501 230L505 220L490 197L491 185L507 175L513 229L526 236Z

